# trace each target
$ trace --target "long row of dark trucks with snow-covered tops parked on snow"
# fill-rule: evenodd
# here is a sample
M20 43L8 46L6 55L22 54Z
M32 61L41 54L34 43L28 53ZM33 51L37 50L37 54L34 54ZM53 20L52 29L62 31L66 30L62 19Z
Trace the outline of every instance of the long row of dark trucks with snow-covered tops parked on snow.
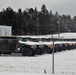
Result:
M76 49L75 38L51 38L43 36L3 36L0 37L0 54L21 53L22 56L35 56Z

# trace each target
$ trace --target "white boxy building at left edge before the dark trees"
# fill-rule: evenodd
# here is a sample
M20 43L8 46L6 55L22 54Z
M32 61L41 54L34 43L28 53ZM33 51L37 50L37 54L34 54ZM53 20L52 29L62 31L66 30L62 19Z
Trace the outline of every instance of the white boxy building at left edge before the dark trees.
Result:
M0 25L0 36L11 36L11 35L12 35L12 26Z

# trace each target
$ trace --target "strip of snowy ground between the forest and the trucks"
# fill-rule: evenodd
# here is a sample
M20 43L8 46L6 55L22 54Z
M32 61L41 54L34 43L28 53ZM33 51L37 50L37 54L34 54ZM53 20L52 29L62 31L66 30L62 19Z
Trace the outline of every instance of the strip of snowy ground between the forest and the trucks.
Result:
M60 33L60 34L52 34L52 35L26 35L26 36L17 36L21 38L76 38L76 33Z

